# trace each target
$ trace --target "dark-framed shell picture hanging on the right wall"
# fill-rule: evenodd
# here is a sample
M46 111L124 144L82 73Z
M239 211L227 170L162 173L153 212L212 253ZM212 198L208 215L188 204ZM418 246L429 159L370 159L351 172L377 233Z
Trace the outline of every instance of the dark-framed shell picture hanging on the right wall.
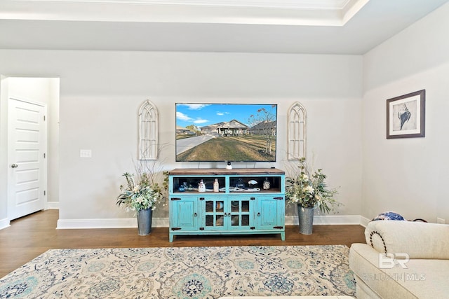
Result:
M424 137L426 90L387 99L387 139Z

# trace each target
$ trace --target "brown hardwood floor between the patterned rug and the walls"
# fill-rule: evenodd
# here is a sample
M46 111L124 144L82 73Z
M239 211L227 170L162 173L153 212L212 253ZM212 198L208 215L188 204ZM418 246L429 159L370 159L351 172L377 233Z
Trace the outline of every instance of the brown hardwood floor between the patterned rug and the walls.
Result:
M286 241L279 235L178 236L168 242L168 228L152 228L151 235L139 236L137 228L56 230L58 210L39 211L11 221L0 230L0 277L48 249L247 246L247 245L338 245L365 243L361 225L315 225L312 235L301 235L297 226L286 227Z

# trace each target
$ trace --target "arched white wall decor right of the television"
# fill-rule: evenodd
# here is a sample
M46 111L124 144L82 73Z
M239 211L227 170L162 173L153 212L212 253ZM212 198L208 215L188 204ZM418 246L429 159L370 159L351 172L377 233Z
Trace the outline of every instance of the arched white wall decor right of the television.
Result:
M299 160L306 156L307 137L306 109L295 102L288 110L288 160Z

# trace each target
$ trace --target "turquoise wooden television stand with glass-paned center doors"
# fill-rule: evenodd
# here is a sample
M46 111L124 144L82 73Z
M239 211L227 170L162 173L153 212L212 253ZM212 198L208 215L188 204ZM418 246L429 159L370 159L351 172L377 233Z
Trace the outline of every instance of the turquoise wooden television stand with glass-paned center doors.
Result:
M280 234L285 240L282 170L173 169L168 183L170 242L175 235Z

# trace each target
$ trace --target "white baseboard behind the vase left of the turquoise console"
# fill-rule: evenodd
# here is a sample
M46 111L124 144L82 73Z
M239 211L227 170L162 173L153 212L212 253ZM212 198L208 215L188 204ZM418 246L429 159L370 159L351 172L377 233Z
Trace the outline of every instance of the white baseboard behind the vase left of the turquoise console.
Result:
M137 228L137 218L116 219L59 219L57 230L81 228ZM153 218L153 228L168 228L168 218Z

